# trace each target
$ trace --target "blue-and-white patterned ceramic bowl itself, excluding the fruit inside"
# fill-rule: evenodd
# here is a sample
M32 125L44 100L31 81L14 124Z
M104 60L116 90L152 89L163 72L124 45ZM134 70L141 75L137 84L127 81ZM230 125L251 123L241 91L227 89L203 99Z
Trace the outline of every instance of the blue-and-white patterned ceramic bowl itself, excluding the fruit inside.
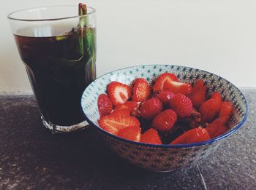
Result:
M228 123L230 130L217 138L201 143L154 145L118 138L116 135L112 135L99 127L97 122L99 119L97 98L99 94L106 92L106 87L110 82L118 81L124 84L130 84L138 77L143 77L148 82L152 82L159 74L165 72L176 74L181 82L190 84L193 84L198 79L203 79L208 87L208 97L214 91L218 91L222 94L222 98L231 101L234 105L234 111ZM139 167L157 172L167 172L181 167L187 167L207 157L217 149L219 143L224 138L242 126L247 115L246 99L235 85L207 71L172 65L133 66L100 76L89 84L83 92L81 105L86 120L102 134L105 143L119 157Z

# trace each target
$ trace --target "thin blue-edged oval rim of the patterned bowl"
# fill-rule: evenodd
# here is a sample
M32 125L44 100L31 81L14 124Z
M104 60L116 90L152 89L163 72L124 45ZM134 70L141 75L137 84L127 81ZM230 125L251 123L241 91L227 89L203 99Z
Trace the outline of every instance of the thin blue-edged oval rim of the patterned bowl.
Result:
M167 64L148 64L148 65L138 65L138 66L129 66L129 67L125 67L125 68L119 68L119 69L116 69L114 71L109 71L108 73L106 74L103 74L102 76L99 76L97 77L97 79L94 80L94 82L96 82L99 78L103 77L103 76L106 76L112 72L115 72L115 71L121 71L121 70L124 70L124 69L128 69L128 68L134 68L134 67L140 67L140 66L174 66L174 67L185 67L185 68L192 68L192 67L188 67L188 66L177 66L177 65L167 65ZM192 69L197 69L199 71L204 71L208 74L213 74L209 71L205 71L203 69L199 69L199 68L192 68ZM221 79L224 79L222 76L219 76L217 74L214 74L215 76L218 76L219 78ZM224 79L226 82L229 82L227 79ZM94 83L94 82L91 82ZM232 82L229 82L230 84L233 85L233 87L236 87L236 85L234 85ZM89 84L86 89L91 85ZM125 143L131 143L131 144L134 144L134 145L138 145L138 146L148 146L148 147L154 147L154 148L189 148L189 147L192 147L192 146L203 146L203 145L208 145L208 144L211 144L211 143L215 143L223 138L227 138L229 135L233 134L234 132L236 132L236 130L238 130L242 124L244 124L245 120L246 120L246 117L248 115L248 104L247 104L247 100L244 96L244 93L241 92L241 90L238 89L238 87L236 87L236 89L241 92L241 95L244 97L244 100L245 100L245 105L246 105L246 113L244 114L244 117L243 119L241 120L241 122L239 122L236 127L233 127L232 130L230 130L229 132L226 132L224 133L223 135L220 135L216 138L211 138L210 140L206 140L206 141L203 141L203 142L198 142L198 143L188 143L188 144L175 144L175 145L172 145L172 144L151 144L151 143L141 143L141 142L138 142L138 141L133 141L133 140L127 140L125 138L120 138L116 135L113 135L111 134L110 132L107 132L105 130L103 130L101 127L97 126L96 124L94 124L94 122L91 122L91 120L89 119L88 116L86 116L85 112L83 111L83 96L84 96L84 93L86 92L86 89L83 90L83 94L81 96L81 100L80 100L80 104L81 104L81 108L82 108L82 112L83 112L83 116L85 116L85 119L87 122L89 122L89 124L91 124L95 129L97 129L99 132L102 132L103 134L109 136L110 138L114 138L116 140L121 140Z

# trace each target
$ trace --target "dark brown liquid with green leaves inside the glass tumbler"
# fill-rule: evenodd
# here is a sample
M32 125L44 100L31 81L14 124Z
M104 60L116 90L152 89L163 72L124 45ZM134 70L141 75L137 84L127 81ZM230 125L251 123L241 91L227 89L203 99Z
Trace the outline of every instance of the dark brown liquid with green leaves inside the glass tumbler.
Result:
M46 122L83 122L80 98L95 79L94 28L50 37L15 35L15 40Z

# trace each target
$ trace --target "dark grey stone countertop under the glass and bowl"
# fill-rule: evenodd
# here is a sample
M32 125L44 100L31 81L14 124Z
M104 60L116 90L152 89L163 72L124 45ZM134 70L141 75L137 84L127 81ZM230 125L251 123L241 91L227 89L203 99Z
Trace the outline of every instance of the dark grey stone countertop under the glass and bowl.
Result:
M249 115L195 167L151 173L108 150L91 128L51 135L32 95L0 95L0 189L255 189L256 89L243 89Z

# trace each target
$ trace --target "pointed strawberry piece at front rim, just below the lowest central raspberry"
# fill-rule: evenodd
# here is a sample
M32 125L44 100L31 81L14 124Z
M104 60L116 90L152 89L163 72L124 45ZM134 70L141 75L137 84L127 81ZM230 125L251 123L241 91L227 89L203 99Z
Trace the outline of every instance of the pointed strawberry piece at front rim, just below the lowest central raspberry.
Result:
M140 136L141 143L162 144L157 130L149 129Z

